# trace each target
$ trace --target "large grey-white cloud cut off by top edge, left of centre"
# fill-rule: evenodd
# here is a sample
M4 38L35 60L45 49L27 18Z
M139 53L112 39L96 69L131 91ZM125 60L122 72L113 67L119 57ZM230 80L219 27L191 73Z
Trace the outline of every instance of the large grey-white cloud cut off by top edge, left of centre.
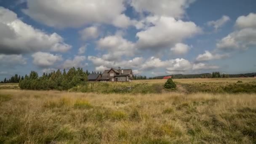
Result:
M24 13L51 27L112 24L125 11L124 0L27 0L27 7Z

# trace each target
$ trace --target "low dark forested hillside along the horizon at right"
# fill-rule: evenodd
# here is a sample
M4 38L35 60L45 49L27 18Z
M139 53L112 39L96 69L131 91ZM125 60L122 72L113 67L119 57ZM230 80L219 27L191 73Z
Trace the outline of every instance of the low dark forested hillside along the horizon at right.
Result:
M239 77L240 75L246 75L248 77L252 77L253 73L246 73L246 74L232 74L229 75L229 77ZM163 75L163 76L157 76L157 77L153 77L153 79L163 79L163 77L168 76L168 75ZM174 79L179 79L179 78L211 78L212 75L210 73L203 73L203 74L190 74L190 75L182 75L182 74L178 74L178 75L172 75ZM221 75L222 77L222 75Z

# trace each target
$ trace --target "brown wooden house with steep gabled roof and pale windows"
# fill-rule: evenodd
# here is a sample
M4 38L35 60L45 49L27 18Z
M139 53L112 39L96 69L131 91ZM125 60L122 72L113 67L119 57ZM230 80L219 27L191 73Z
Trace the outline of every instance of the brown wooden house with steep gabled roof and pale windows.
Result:
M100 82L132 82L133 72L131 69L108 69L99 78Z

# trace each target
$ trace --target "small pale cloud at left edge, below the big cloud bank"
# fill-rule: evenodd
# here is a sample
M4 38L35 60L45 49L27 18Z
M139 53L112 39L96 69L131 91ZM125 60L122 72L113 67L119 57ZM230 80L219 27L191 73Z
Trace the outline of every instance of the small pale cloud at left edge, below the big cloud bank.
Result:
M17 54L1 54L0 53L0 65L1 66L13 66L13 65L19 65L19 64L27 64L26 59L21 55Z

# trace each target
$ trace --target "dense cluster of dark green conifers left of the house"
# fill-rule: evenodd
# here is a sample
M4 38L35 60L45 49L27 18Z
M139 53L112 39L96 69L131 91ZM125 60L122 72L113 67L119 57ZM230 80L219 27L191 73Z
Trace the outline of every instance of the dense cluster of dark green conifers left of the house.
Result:
M19 81L19 87L30 90L68 90L85 83L87 76L82 68L75 69L75 67L69 69L68 72L65 69L63 72L58 69L56 72L43 73L41 77L38 76L37 72L32 71L24 77L24 80Z

